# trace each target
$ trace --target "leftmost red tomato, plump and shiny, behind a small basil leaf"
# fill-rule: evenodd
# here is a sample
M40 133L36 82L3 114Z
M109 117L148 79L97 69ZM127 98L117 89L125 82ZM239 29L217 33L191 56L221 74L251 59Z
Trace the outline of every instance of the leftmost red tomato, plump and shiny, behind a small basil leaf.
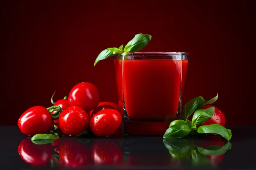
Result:
M34 106L20 116L18 126L22 133L29 136L48 133L52 129L52 117L46 108Z

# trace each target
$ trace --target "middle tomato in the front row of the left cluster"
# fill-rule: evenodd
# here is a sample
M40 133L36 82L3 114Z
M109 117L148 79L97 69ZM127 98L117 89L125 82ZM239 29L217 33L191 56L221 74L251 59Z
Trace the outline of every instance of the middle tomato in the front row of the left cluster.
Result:
M62 111L59 117L59 125L62 133L76 136L89 126L88 114L78 106L70 106Z

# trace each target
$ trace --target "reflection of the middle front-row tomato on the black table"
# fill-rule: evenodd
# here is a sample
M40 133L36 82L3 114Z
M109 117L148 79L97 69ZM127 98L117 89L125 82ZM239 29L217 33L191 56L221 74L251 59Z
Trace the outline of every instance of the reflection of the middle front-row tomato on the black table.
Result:
M88 164L89 149L87 144L77 139L64 139L59 151L61 166L80 167Z

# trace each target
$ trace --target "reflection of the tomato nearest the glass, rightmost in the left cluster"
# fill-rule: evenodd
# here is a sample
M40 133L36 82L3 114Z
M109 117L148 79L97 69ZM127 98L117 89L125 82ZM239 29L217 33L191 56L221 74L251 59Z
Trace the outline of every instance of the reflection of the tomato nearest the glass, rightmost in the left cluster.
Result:
M123 159L120 148L111 139L96 139L90 147L90 156L94 164L120 164Z

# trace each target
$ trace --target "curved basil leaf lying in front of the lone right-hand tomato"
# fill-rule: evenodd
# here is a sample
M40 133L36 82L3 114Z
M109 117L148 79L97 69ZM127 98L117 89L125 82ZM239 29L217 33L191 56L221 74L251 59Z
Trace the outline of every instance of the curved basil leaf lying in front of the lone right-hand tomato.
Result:
M197 130L198 133L217 133L227 139L228 141L232 137L232 133L230 129L226 129L225 127L218 125L218 124L212 124L212 125L204 125L198 127Z

